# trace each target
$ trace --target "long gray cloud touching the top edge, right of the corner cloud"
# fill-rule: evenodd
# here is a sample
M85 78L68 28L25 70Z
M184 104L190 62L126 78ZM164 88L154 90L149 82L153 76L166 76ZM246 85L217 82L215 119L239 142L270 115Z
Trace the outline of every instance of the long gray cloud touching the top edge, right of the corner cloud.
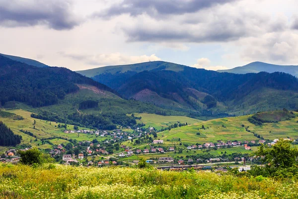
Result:
M123 0L103 12L94 13L94 16L110 17L124 13L137 16L147 13L151 17L160 17L160 15L194 13L233 1L239 0Z

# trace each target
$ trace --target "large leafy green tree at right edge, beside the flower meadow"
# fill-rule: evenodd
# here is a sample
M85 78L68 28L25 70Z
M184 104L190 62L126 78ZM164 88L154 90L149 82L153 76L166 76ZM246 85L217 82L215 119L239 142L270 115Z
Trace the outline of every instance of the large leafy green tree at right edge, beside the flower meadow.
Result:
M263 162L269 163L266 167L273 169L290 168L297 164L298 149L291 148L291 141L281 139L273 146L261 145L258 151L255 152L257 156L265 156Z

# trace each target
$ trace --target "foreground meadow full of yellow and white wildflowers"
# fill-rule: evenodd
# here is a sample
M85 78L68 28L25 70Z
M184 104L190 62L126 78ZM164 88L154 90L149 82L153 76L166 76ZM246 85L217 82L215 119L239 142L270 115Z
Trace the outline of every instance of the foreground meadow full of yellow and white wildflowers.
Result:
M2 199L295 199L298 183L211 172L0 164Z

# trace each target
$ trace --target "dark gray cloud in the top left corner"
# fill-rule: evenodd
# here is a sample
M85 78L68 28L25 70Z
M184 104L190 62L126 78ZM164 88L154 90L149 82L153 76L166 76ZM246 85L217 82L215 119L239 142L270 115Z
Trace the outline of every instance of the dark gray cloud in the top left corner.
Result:
M81 19L69 0L0 0L0 26L46 25L55 30L72 29Z

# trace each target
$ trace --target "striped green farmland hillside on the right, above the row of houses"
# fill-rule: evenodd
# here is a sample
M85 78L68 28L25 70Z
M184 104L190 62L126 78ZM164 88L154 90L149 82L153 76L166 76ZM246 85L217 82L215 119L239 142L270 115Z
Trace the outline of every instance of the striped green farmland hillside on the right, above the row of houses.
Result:
M245 115L202 121L188 126L174 128L170 131L159 132L158 139L164 140L164 144L169 146L179 144L179 138L183 144L204 144L206 142L217 142L218 140L249 141L259 139L254 136L253 132L263 136L264 139L270 140L298 138L297 117L277 123L263 123L262 126L257 126L247 120L250 116ZM202 128L203 125L205 129ZM246 131L245 128L251 132ZM200 134L198 135L197 133Z

